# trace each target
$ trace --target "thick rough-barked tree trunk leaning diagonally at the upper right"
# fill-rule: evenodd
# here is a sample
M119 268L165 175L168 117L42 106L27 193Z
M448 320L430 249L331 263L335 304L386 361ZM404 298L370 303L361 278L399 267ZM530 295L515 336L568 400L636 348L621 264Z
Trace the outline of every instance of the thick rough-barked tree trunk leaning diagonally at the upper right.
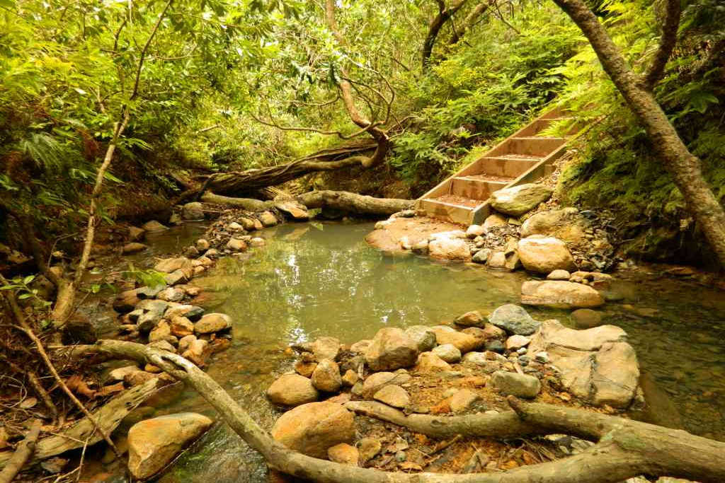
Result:
M703 230L721 266L725 267L725 211L705 182L700 159L689 152L660 104L647 90L645 81L632 72L619 48L584 1L554 1L589 39L602 67L645 128L655 153L682 193L687 209Z

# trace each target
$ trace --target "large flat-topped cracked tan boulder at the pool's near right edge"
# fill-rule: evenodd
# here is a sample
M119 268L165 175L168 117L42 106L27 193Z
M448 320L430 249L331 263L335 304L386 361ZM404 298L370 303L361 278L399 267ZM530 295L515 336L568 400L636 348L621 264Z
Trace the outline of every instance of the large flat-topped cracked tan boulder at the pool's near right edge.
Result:
M639 364L626 332L613 325L575 330L556 320L542 323L529 353L546 351L573 395L596 406L626 408L637 390Z

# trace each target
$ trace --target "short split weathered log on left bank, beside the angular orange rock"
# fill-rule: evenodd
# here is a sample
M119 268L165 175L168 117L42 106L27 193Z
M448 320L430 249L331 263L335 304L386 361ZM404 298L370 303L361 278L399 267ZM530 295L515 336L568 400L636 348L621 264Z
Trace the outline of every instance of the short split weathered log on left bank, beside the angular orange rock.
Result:
M155 378L144 382L142 385L132 387L91 413L91 416L94 421L97 421L98 427L104 433L111 434L130 411L136 409L157 390L158 384L159 379ZM59 434L38 441L36 453L30 461L41 461L66 451L83 448L86 440L88 440L88 445L99 442L103 439L103 436L96 431L94 421L86 416ZM7 466L11 458L12 452L4 451L0 453L0 468Z

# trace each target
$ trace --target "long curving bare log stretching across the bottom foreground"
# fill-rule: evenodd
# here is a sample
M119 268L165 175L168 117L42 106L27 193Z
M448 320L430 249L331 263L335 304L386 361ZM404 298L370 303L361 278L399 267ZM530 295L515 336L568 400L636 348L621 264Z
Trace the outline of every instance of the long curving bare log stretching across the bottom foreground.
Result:
M177 354L146 345L119 340L100 340L80 352L101 353L154 364L199 392L227 424L269 466L285 474L323 483L616 483L633 476L675 476L703 483L725 481L725 443L698 437L682 430L658 427L617 416L543 403L522 403L510 397L509 404L524 428L542 432L576 434L597 441L588 450L558 461L522 466L484 474L405 474L333 463L311 458L284 447L270 437L236 400L191 361ZM481 420L484 416L471 416ZM510 416L507 416L510 417ZM436 425L448 425L436 418ZM473 425L457 431L468 436ZM503 434L511 434L502 429ZM527 433L530 434L530 433Z

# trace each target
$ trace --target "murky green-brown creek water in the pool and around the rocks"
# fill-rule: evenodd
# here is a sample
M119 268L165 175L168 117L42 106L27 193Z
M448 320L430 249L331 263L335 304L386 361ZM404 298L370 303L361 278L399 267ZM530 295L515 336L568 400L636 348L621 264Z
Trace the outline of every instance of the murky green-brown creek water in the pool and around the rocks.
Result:
M321 335L354 343L381 327L437 324L466 311L489 312L518 302L527 278L523 272L389 256L365 243L372 229L371 223L309 223L263 230L264 248L222 259L194 280L207 291L207 310L234 320L233 345L214 356L208 373L262 426L271 427L276 419L264 392L289 370L292 360L283 349L291 343ZM196 237L198 231L157 237L175 249L183 246L184 236ZM642 368L673 400L687 430L725 440L723 293L648 274L618 274L616 283L624 300L603 308L605 321L626 329ZM530 312L537 319L571 324L566 311ZM177 411L214 415L192 391L157 414ZM220 426L159 481L206 483L210 478L215 483L263 482L265 466Z

